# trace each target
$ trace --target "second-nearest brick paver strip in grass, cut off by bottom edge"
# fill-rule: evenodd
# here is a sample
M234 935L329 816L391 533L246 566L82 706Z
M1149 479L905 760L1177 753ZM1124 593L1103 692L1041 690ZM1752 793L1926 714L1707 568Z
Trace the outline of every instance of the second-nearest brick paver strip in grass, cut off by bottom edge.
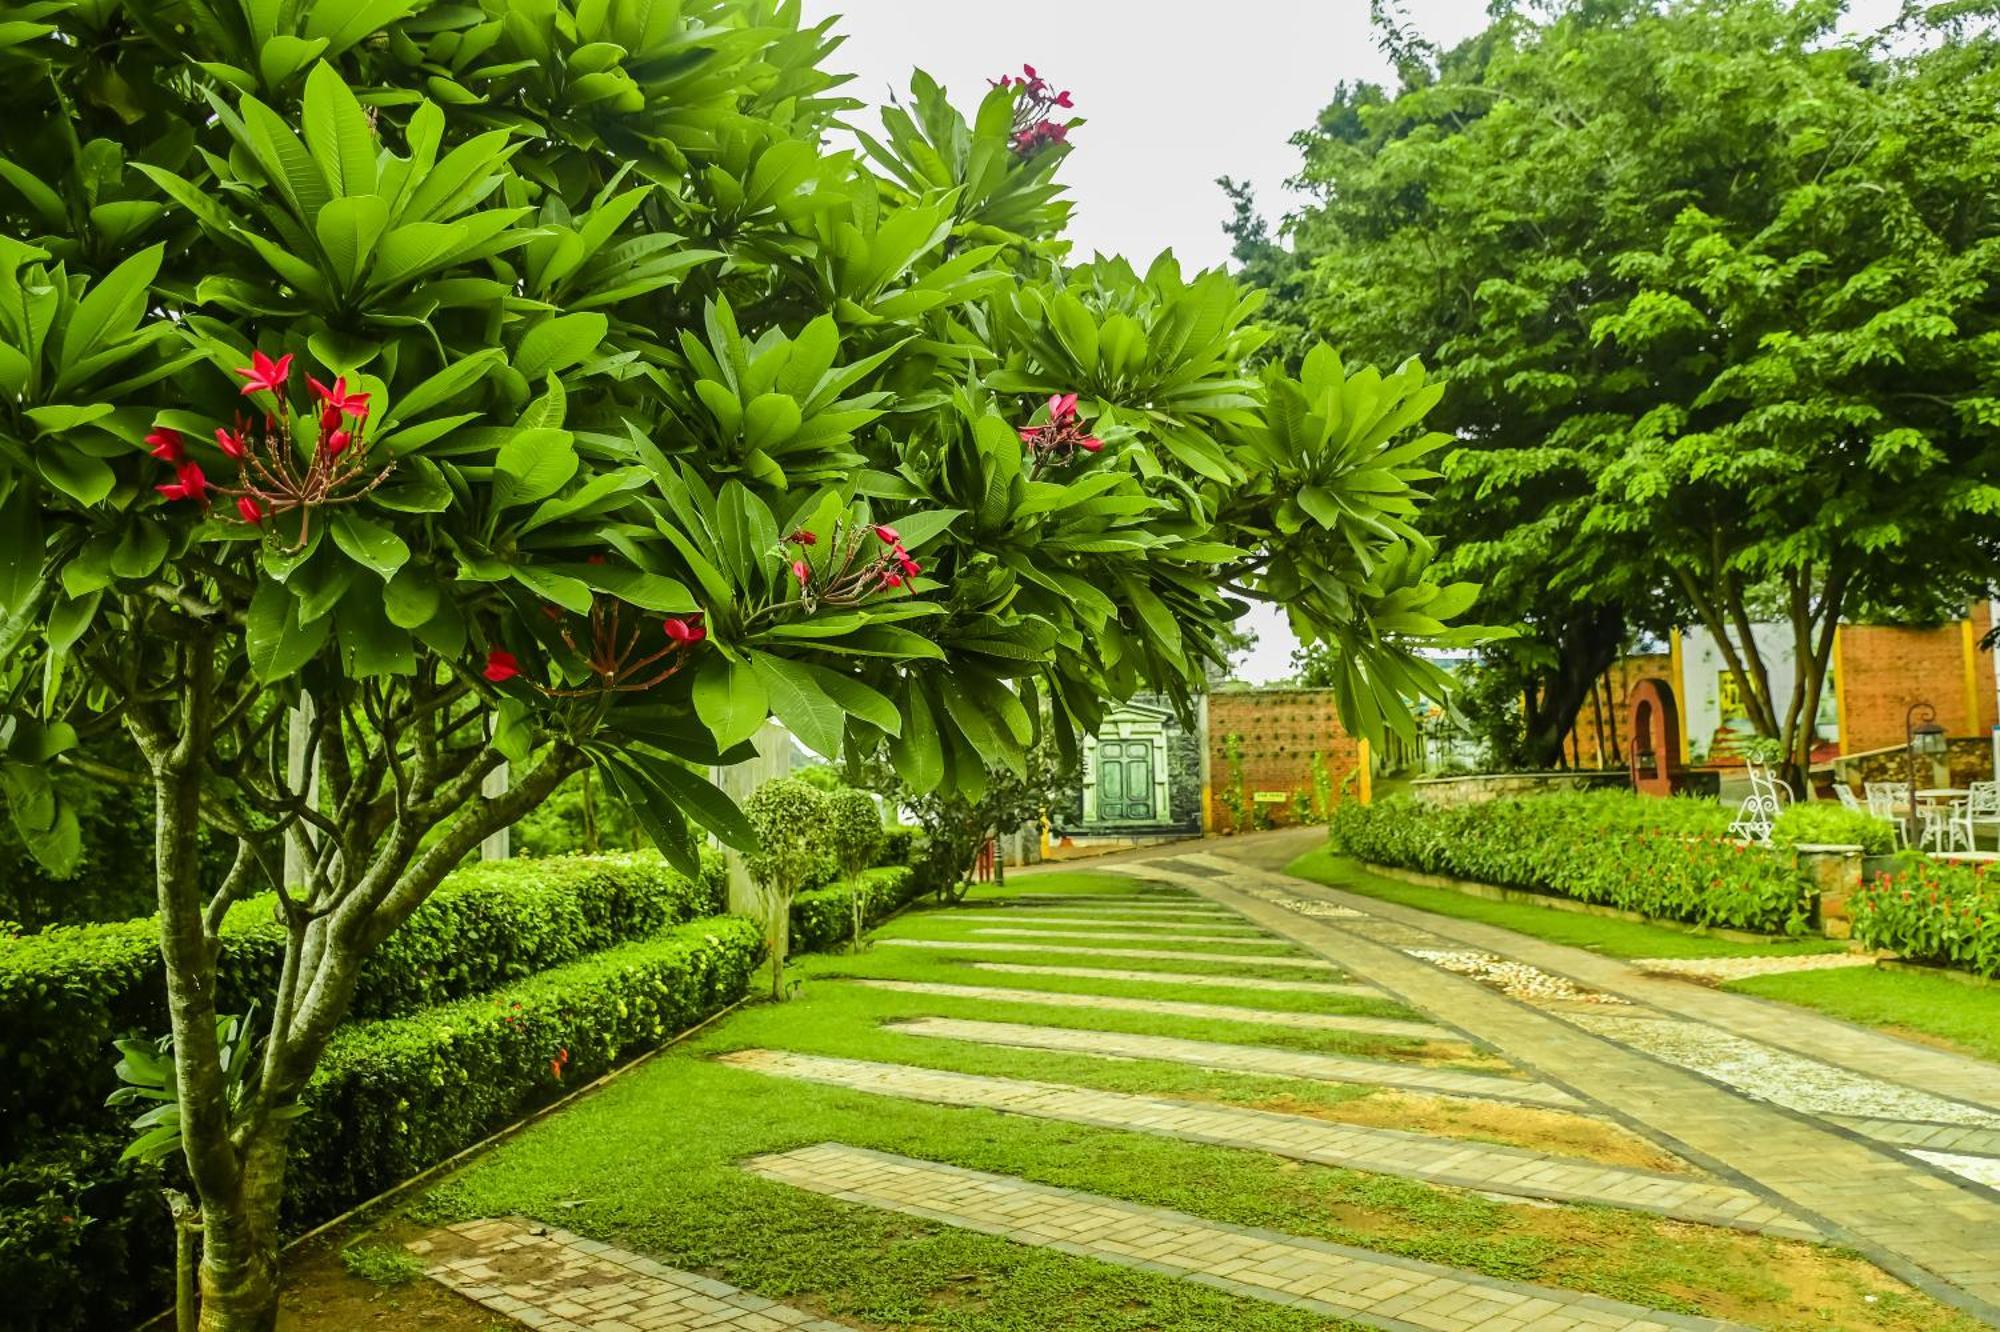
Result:
M758 1156L746 1168L844 1202L1180 1276L1388 1332L1728 1332L1736 1326L836 1142Z

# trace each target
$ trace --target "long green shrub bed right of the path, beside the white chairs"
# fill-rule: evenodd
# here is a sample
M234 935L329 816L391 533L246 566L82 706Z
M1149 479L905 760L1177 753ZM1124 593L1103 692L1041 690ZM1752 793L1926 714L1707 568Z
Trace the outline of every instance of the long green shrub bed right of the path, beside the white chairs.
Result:
M1582 792L1428 806L1406 796L1334 810L1334 846L1376 864L1616 906L1662 920L1800 934L1790 856L1730 842L1706 800Z

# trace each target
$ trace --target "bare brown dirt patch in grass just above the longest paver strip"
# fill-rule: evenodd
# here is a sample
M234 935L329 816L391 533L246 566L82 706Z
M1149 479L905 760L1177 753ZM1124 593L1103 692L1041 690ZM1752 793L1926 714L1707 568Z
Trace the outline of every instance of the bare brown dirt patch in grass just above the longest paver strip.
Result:
M1254 1102L1258 1110L1278 1114L1310 1114L1316 1120L1366 1124L1370 1128L1406 1128L1418 1134L1470 1138L1502 1146L1582 1156L1606 1166L1636 1166L1692 1174L1694 1166L1668 1150L1640 1138L1632 1130L1606 1120L1592 1120L1566 1110L1536 1110L1488 1100L1454 1100L1448 1096L1412 1096L1408 1092L1376 1092L1340 1104L1274 1096Z

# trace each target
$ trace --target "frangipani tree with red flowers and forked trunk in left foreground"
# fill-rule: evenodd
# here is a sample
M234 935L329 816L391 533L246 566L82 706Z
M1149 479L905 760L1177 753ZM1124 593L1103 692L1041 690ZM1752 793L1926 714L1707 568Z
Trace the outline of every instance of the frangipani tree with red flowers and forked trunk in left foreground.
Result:
M704 832L754 850L700 768L766 716L976 798L1044 698L1062 742L1186 698L1278 568L1358 670L1416 670L1430 622L1366 628L1410 592L1406 496L1316 518L1324 568L1256 516L1330 436L1260 442L1226 278L1172 306L1170 264L1054 266L1072 122L1032 76L972 122L920 84L884 178L820 148L848 104L796 4L184 0L14 36L0 774L52 862L62 764L156 792L152 1146L200 1202L204 1328L274 1322L292 1112L362 960L568 774L688 868ZM1036 312L1080 286L1150 378L1072 382ZM284 968L224 1066L216 932L264 890Z

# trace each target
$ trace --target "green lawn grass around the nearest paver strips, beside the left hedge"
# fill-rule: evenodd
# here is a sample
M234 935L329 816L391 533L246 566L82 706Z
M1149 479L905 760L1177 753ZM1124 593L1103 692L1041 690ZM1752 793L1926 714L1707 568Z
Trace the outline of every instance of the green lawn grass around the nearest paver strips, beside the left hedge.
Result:
M1972 1326L1858 1260L1798 1244L1608 1208L1494 1202L1160 1136L902 1102L704 1058L746 1044L964 1060L986 1072L1030 1058L882 1032L866 1016L888 996L856 998L856 992L858 986L810 984L792 1004L732 1016L448 1178L414 1204L418 1218L548 1218L866 1328L1330 1332L1348 1326L1168 1276L844 1204L762 1180L738 1164L764 1152L842 1142L1656 1308L1738 1318L1750 1312L1748 1320L1760 1326L1818 1326L1798 1304L1804 1286L1794 1296L1774 1276L1808 1264L1816 1270L1816 1292L1832 1280L1878 1296L1864 1314L1838 1326L1912 1332ZM1102 1078L1116 1076L1106 1070L1120 1066L1086 1062ZM1020 1068L1064 1080L1086 1072L1074 1058L1042 1054ZM1204 1078L1182 1066L1132 1068L1146 1072L1156 1094L1176 1078ZM1860 1308L1854 1294L1840 1312Z

